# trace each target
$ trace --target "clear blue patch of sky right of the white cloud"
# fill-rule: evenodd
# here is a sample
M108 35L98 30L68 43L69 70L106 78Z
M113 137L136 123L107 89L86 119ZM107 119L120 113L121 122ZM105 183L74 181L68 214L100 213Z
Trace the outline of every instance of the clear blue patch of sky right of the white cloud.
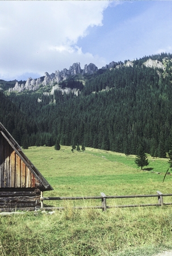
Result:
M104 11L102 23L78 40L83 52L94 52L108 61L172 52L171 1L121 2Z

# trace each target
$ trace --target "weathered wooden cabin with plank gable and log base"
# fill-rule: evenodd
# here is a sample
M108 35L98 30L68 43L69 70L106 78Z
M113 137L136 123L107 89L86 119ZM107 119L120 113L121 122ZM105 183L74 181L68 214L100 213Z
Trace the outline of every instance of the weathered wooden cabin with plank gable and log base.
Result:
M53 190L0 123L0 212L40 208L40 195Z

